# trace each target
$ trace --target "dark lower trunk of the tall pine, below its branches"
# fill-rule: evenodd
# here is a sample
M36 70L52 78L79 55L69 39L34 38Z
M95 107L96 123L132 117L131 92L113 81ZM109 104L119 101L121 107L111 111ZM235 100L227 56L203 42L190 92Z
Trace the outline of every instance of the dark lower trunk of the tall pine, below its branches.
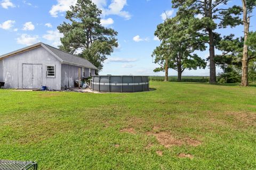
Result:
M211 29L208 30L209 32L209 52L210 52L210 83L215 84L216 81L216 66L214 62L215 56L215 49L214 49L214 36Z

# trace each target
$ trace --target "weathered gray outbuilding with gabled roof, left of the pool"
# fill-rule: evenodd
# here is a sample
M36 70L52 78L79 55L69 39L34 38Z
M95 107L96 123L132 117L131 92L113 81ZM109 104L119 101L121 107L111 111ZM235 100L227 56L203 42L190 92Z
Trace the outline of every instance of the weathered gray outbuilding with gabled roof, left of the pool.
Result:
M95 75L95 70L97 67L84 58L43 43L0 56L0 82L5 82L4 88L73 88L76 80Z

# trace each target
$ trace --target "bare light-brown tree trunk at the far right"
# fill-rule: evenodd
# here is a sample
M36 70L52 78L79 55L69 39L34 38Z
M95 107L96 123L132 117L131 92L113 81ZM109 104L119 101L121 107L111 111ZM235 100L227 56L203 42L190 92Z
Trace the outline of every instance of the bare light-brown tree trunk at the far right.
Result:
M244 48L242 59L242 80L241 86L248 86L248 46L245 44L249 33L250 18L247 18L246 0L242 0L243 3L243 22L244 22Z

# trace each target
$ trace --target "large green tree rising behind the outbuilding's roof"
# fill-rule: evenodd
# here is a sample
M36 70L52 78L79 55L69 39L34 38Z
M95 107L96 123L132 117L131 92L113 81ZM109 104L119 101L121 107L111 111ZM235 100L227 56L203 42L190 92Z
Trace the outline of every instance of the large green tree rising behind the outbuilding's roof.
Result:
M77 0L75 6L70 7L66 19L58 29L63 33L59 47L71 54L82 50L78 55L86 58L102 70L103 62L118 46L115 36L117 32L105 28L100 24L101 10L91 0Z

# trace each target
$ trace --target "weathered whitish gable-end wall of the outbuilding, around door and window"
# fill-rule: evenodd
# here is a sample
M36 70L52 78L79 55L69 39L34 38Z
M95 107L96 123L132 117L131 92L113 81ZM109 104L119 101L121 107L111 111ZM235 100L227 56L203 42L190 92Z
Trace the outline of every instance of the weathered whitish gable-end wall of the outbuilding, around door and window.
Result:
M42 86L61 89L61 63L43 47L5 58L3 60L3 80L5 88L23 88L22 64L42 64ZM55 65L55 78L46 78L46 65Z

